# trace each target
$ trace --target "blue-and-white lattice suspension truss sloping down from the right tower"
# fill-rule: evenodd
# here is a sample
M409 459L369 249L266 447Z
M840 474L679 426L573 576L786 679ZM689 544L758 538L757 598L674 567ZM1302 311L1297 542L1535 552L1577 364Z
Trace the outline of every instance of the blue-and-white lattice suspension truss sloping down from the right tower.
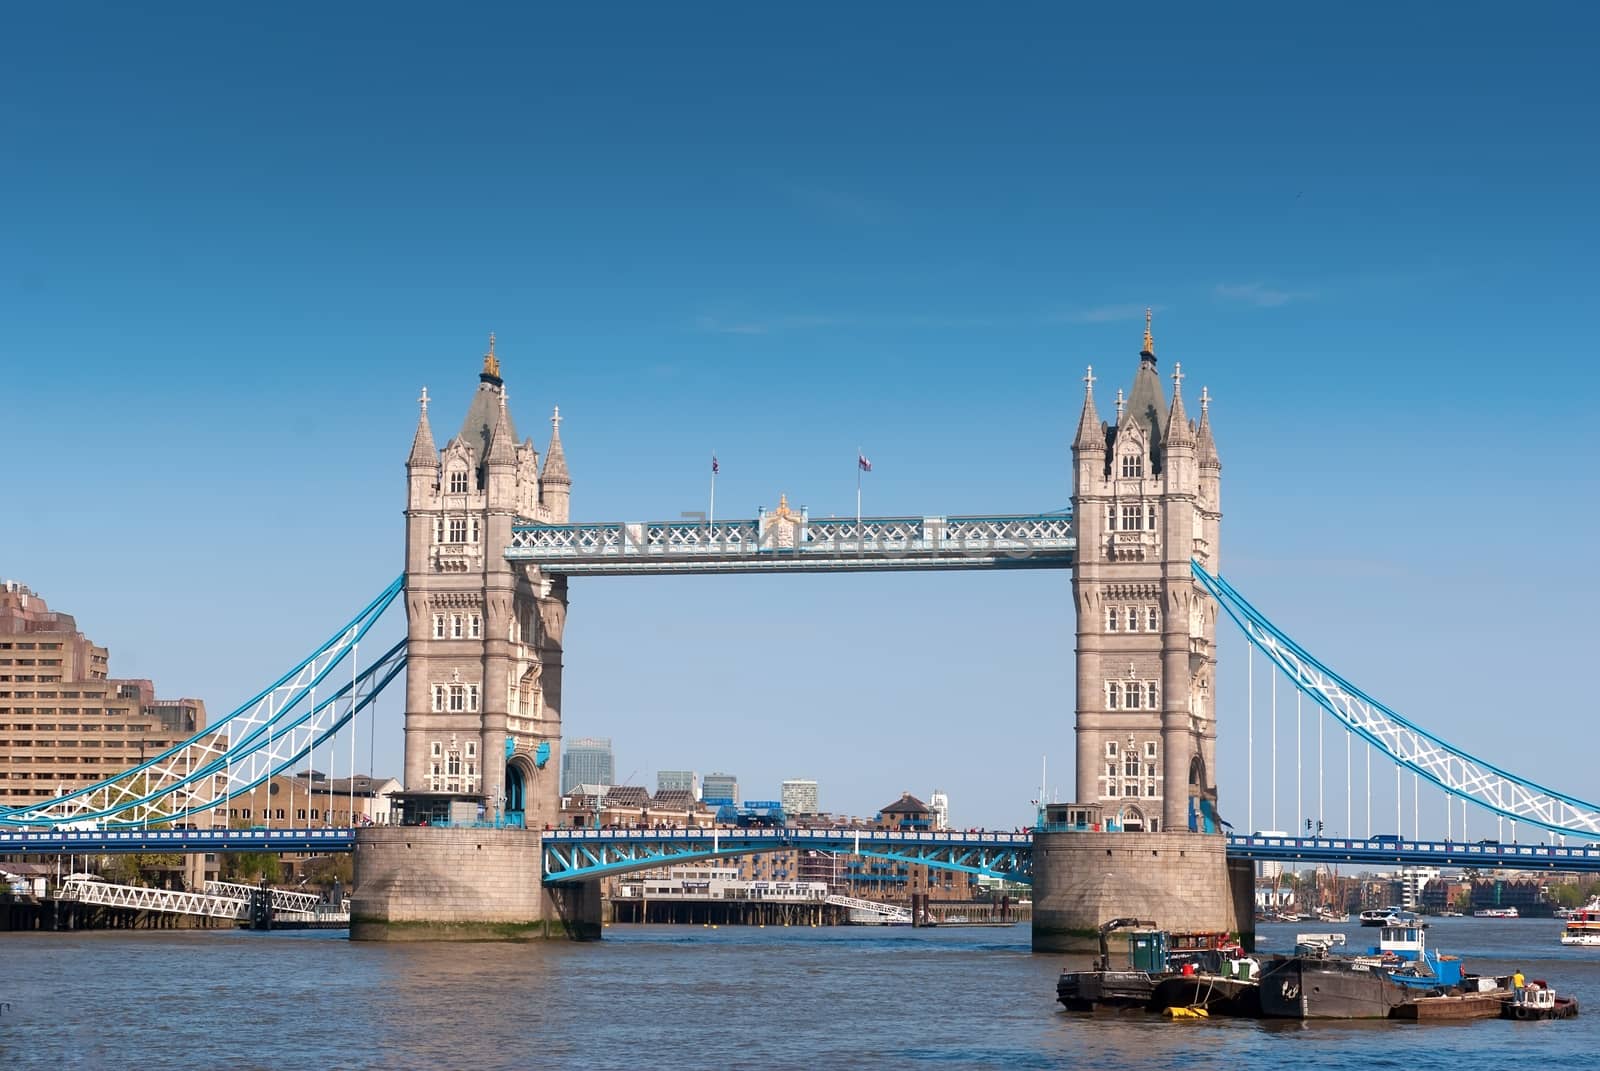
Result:
M1306 695L1394 762L1459 799L1552 832L1600 836L1600 807L1554 792L1427 733L1350 685L1285 636L1221 576L1194 564L1195 578L1227 610L1245 637Z

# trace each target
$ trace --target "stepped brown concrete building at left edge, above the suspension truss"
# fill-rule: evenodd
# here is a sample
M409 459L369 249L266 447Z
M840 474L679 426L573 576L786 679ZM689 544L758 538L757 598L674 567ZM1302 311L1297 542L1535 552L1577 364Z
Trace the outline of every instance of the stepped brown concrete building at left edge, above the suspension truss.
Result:
M139 765L205 728L200 700L109 676L70 613L0 581L0 807L42 804Z

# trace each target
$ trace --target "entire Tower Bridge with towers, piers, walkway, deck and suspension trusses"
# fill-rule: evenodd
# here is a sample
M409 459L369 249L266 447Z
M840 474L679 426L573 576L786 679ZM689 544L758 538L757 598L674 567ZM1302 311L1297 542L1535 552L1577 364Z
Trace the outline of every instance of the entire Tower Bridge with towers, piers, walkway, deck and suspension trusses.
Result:
M1170 379L1168 400L1149 315L1114 419L1101 419L1094 373L1085 375L1067 511L822 519L782 496L757 517L595 523L571 519L560 410L542 456L531 439L518 440L491 336L466 419L443 448L426 389L419 399L405 464L403 576L205 733L94 786L0 812L0 852L354 850L352 935L414 938L595 935L602 876L816 847L1030 880L1035 948L1074 946L1126 914L1248 932L1253 860L1600 869L1600 847L1565 844L1600 839L1600 807L1419 728L1317 661L1222 578L1211 397L1200 392L1194 421L1178 365ZM1011 568L1070 570L1077 618L1077 799L1046 808L1032 834L558 829L571 578ZM362 669L360 640L392 600L403 600L406 637ZM1347 740L1394 762L1397 778L1408 770L1459 804L1462 837L1224 834L1214 781L1219 616ZM402 669L405 824L163 828L226 815L238 794L331 749L339 733L354 754L358 716ZM1038 732L1054 728L1046 720ZM1558 837L1472 844L1467 804Z

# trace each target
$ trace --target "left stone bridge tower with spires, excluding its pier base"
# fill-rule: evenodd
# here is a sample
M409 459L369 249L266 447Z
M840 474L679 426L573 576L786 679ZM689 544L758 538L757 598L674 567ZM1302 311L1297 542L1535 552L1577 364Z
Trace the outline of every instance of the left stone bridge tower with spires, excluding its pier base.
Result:
M406 459L405 815L539 829L560 808L566 578L502 554L514 522L568 517L560 410L541 469L517 442L493 335L443 451L427 403L424 389Z

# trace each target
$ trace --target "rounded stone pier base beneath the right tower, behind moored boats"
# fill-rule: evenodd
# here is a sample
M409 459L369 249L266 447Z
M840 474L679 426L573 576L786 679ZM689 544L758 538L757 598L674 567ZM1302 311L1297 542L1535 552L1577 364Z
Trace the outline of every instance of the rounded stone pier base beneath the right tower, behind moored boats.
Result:
M1219 834L1035 832L1034 951L1096 953L1099 925L1110 919L1237 933L1251 948L1251 882L1243 882L1243 908L1238 888Z

